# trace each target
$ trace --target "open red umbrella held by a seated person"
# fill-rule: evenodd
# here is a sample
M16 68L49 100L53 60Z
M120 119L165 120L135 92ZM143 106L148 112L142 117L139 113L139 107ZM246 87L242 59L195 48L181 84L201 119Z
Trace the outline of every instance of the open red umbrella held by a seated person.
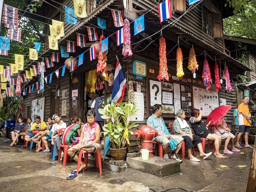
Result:
M231 105L221 105L216 109L212 110L207 117L206 124L208 124L209 121L212 120L211 125L214 125L220 118L226 116L227 111L229 111L229 109L231 108L232 108Z

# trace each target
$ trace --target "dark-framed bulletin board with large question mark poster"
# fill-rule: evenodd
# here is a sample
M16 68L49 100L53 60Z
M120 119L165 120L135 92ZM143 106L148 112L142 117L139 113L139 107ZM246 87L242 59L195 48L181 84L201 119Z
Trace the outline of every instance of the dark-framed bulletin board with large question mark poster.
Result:
M186 115L191 115L191 86L172 82L159 82L156 78L148 78L147 117L152 115L152 106L162 105L162 117L173 117L178 109L183 109Z

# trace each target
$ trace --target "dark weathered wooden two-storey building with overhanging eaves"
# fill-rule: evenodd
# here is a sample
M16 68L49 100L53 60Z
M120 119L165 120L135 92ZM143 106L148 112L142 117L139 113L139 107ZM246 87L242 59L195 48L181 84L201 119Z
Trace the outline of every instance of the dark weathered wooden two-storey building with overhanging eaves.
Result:
M78 57L84 52L83 65L79 66L72 74L66 70L65 75L59 78L53 75L52 83L45 84L45 92L37 94L32 92L24 96L25 112L24 116L29 117L32 110L32 100L45 98L44 120L48 116L55 113L62 115L62 119L68 124L70 117L78 116L85 121L85 112L89 108L93 94L85 92L87 83L85 82L86 72L97 68L97 59L90 61L89 47L95 43L88 40L88 32L86 27L96 27L97 33L109 37L107 64L116 66L116 55L119 58L120 64L128 81L133 83L138 107L144 106L141 109L142 117L139 121L139 127L146 124L147 118L152 114L151 106L154 103L163 104L165 109L163 118L168 124L174 120L174 111L182 108L186 111L187 120L194 107L202 108L204 111L204 119L209 114L212 108L220 105L221 102L231 104L234 108L237 107L237 90L236 83L232 82L232 78L237 74L243 74L245 71L250 71L250 68L235 60L232 56L226 54L225 43L223 38L223 23L222 19L232 14L232 10L224 6L220 0L204 0L200 3L188 5L186 0L171 0L172 18L159 22L157 0L142 0L142 1L122 1L122 0L103 0L103 1L88 1L86 18L79 18L77 25L64 23L65 36L58 40L59 46L66 46L66 40L76 41L76 33L86 35L86 48L76 47L75 53L70 53L70 56ZM58 3L47 4L44 2L41 9L41 14L45 17L60 21L65 21L65 6L73 8L73 0L61 0ZM56 9L57 7L58 9ZM120 28L114 26L114 21L111 9L122 11L123 19L130 20L131 29L131 45L133 55L129 57L122 56L122 45L117 47L116 31ZM134 20L144 14L145 30L137 35L134 35ZM102 30L97 25L97 18L107 20L107 29ZM42 19L42 18L41 18ZM44 22L51 24L50 19L44 19ZM49 34L49 28L46 25L46 34ZM164 37L166 40L167 50L167 66L169 74L169 82L159 82L157 79L159 72L159 37ZM48 38L45 39L48 43ZM196 71L196 78L188 70L188 56L190 48L195 49L197 62L199 65ZM182 79L176 77L176 49L181 48L183 52L183 70L185 75ZM52 52L60 52L60 50L50 50L48 46L41 57L51 57ZM204 59L208 60L211 78L213 84L210 90L206 90L202 81L202 69ZM56 67L48 69L46 75L53 73L56 69L64 65L66 58L61 58ZM218 62L221 68L220 76L224 70L224 66L228 67L229 76L233 90L231 92L225 90L225 85L222 84L222 89L216 93L214 88L214 64ZM135 64L133 64L135 62ZM145 64L146 77L135 75L135 65L137 63ZM61 74L59 70L59 74ZM114 70L108 74L114 73ZM74 81L77 78L78 82ZM97 79L99 80L99 78ZM32 80L25 87L38 81ZM73 81L73 83L72 83ZM75 82L75 83L74 83ZM112 86L108 86L108 82L101 82L104 86L105 99L111 95ZM158 87L153 88L153 85ZM67 98L63 91L67 90ZM102 92L98 92L102 93ZM75 97L74 97L75 96ZM65 98L65 99L64 99ZM160 99L159 99L160 98ZM124 101L128 100L128 91L125 90ZM66 111L64 107L66 106ZM63 115L64 114L64 115ZM227 122L232 121L232 111L228 113ZM131 146L129 152L138 151L135 138L131 137Z

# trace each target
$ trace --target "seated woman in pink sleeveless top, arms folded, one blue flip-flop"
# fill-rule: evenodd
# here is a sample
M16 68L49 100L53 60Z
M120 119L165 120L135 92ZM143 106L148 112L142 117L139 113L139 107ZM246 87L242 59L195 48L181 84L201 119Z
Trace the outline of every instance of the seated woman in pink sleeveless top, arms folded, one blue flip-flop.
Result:
M78 161L79 150L82 149L88 152L95 152L101 149L100 145L100 125L95 122L95 112L91 109L87 111L87 123L84 124L81 130L81 136L79 143L68 149L68 155L76 162ZM79 167L79 173L82 173L86 164L81 161ZM72 175L67 179L73 179L77 176L76 170L71 172Z

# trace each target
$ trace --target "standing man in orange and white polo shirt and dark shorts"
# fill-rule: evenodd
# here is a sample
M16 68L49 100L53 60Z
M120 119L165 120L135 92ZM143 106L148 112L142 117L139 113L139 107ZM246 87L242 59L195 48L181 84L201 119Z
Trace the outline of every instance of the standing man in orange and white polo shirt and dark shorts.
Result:
M253 149L253 147L250 146L249 143L248 143L248 137L249 137L249 133L250 133L250 126L252 124L252 121L250 120L251 114L250 114L249 108L246 105L248 103L249 103L249 98L248 97L243 97L242 98L242 103L238 106L239 134L237 135L237 141L236 141L236 147L237 148L242 148L241 145L239 144L239 139L241 138L242 134L244 133L244 141L245 141L244 147Z

